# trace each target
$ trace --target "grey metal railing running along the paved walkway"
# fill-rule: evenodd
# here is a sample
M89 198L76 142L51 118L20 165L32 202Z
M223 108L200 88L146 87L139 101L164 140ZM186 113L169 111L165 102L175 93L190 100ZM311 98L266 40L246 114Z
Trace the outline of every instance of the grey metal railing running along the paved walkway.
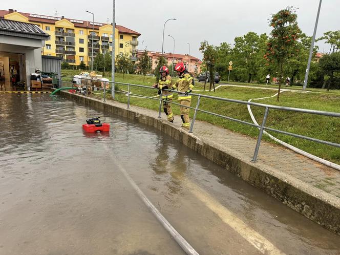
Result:
M85 86L86 87L86 96L89 96L88 88L96 88L94 86L91 86L92 81L98 81L96 79L91 79L91 78L77 78L77 79L81 79L81 80L86 80L87 84L75 84L75 83L70 82L70 81L62 81L62 78L73 78L71 76L62 76L62 75L55 75L55 76L59 77L59 81L60 81L59 86L62 86L62 83L66 83L66 84L67 83L69 83L69 84L72 83L72 88L74 86ZM127 95L127 97L128 97L127 108L128 109L130 109L130 96L137 96L137 97L140 97L140 98L146 98L146 99L151 99L151 100L159 101L158 118L161 118L162 102L166 101L166 100L162 99L162 95L163 95L162 92L163 91L161 91L161 94L160 94L159 98L155 98L155 97L150 97L150 96L144 96L144 95L138 95L138 94L131 93L131 88L132 87L158 90L158 89L153 88L153 87L143 86L143 85L139 85L139 84L124 83L124 82L112 82L112 81L104 81L104 82L110 83L111 86L113 85L113 88L115 88L114 84L120 84L120 85L128 87L128 91L119 91L119 90L115 90L115 89L113 90L114 93L123 93L123 94ZM105 93L107 91L110 91L112 93L112 90L111 89L106 89L105 86L104 86L104 88L97 88L97 89L102 90L103 91L103 95L105 95ZM184 92L173 91L173 90L171 92L172 93L177 93L177 94L184 94ZM260 144L261 144L261 140L262 140L262 135L263 135L263 132L265 130L340 148L340 144L339 143L324 141L324 140L321 140L321 139L316 139L316 138L312 138L312 137L308 137L308 136L303 136L303 135L298 135L298 134L294 134L294 133L290 133L290 132L286 132L286 131L281 131L281 130L269 128L269 127L266 126L266 121L267 121L267 118L268 118L269 110L271 110L271 109L272 110L280 110L280 111L290 111L290 112L314 114L314 115L321 115L321 116L329 116L329 117L337 117L337 118L340 118L340 113L308 110L308 109L301 109L301 108L282 107L282 106L279 106L279 105L270 105L270 104L264 104L264 103L254 103L254 102L242 101L242 100L237 100L237 99L229 99L229 98L216 97L216 96L208 96L208 95L195 94L195 93L190 93L190 95L197 96L198 98L197 98L196 107L186 107L186 108L189 108L189 109L193 109L195 111L193 119L192 119L192 123L190 124L189 133L193 133L194 125L195 125L195 121L196 121L196 117L197 117L197 113L198 112L206 113L206 114L213 115L213 116L216 116L216 117L219 117L219 118L223 118L223 119L226 119L226 120L231 120L231 121L235 121L235 122L242 123L242 124L245 124L245 125L249 125L249 126L252 126L254 128L258 128L260 130L259 136L258 136L258 139L257 139L257 143L256 143L256 147L255 147L255 150L254 150L253 158L251 160L252 162L257 162L257 157L258 157L259 148L260 148ZM224 116L224 115L221 115L221 114L217 114L217 113L213 113L213 112L209 112L209 111L205 111L205 110L199 109L201 100L203 98L214 99L214 100L223 101L223 102L239 103L239 104L244 104L244 105L253 105L253 106L256 106L256 107L264 108L265 109L265 113L264 113L264 116L263 116L262 123L260 125L257 125L257 124L250 123L250 122L247 122L247 121L244 121L244 120L239 120L239 119L236 119L236 118L232 118L232 117L228 117L228 116ZM103 96L103 102L105 102L105 101L106 101L106 97ZM181 106L181 104L176 103L176 102L171 102L171 104L175 104L175 105Z

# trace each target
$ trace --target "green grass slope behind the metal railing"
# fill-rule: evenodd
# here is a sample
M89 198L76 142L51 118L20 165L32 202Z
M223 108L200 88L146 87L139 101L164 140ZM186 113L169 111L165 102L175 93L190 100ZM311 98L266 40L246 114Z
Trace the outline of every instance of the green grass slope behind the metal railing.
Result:
M69 71L67 71L69 72ZM74 71L73 71L74 72ZM63 72L65 75L66 72ZM70 73L71 74L71 73ZM73 76L73 75L72 75ZM126 75L123 79L122 74L116 74L116 81L144 84L151 86L155 82L155 77L145 77L140 75ZM203 83L196 82L195 89L201 89ZM246 83L246 85L249 85ZM274 86L273 86L274 87ZM208 89L208 84L207 87ZM274 87L277 88L277 87ZM290 88L290 87L289 87ZM120 90L127 90L127 86L122 84L119 85ZM301 87L300 87L301 89ZM132 88L132 93L144 95L144 96L155 96L157 95L156 90L150 90L145 88ZM251 98L262 98L274 95L276 92L273 90L259 90L256 88L241 88L241 87L223 87L214 92L199 92L200 94L213 95L224 98L232 98L247 101ZM109 93L107 97L110 97ZM174 96L174 101L177 100L177 95ZM126 103L128 101L124 94L116 93L116 100ZM257 100L256 102L282 105L286 107L294 108L305 108L320 111L329 112L340 112L340 93L339 91L332 91L327 93L325 91L313 91L310 93L294 93L294 92L283 92L280 96L280 102L276 101L276 97ZM140 107L158 110L159 101L145 98L133 98L131 97L130 103L132 105L138 105ZM192 107L195 107L197 98L193 97ZM247 122L252 122L246 105L237 103L217 101L207 98L201 98L200 109L217 114L225 115L232 118L237 118ZM251 110L259 123L262 122L264 115L264 108L251 107ZM179 115L179 107L173 105L174 114ZM194 111L190 111L190 117L192 118ZM241 133L251 137L257 137L259 131L251 126L240 124L234 121L224 120L222 118L215 117L213 115L198 113L197 119L207 121L209 123L221 126L229 129L233 132ZM326 117L320 115L311 115L287 111L270 110L267 120L267 126L283 130L295 134L310 136L326 141L340 143L340 118ZM195 127L194 127L195 132ZM294 138L287 135L281 135L278 133L271 132L275 137L292 144L306 152L309 152L318 157L327 159L334 163L340 164L340 148L328 146L320 143L310 142L303 139ZM267 136L263 136L264 140L275 143Z

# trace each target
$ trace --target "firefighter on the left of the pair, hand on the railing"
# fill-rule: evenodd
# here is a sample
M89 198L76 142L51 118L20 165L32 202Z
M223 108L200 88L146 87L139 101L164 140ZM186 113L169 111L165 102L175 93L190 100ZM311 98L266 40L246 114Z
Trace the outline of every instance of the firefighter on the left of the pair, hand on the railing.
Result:
M167 120L170 122L174 122L174 114L171 109L171 102L173 100L173 94L170 91L167 91L171 89L172 78L169 75L169 70L166 66L162 66L159 72L161 73L161 77L159 78L158 83L155 84L153 87L158 88L159 89L158 94L162 95L162 100L164 100L163 111L166 114Z

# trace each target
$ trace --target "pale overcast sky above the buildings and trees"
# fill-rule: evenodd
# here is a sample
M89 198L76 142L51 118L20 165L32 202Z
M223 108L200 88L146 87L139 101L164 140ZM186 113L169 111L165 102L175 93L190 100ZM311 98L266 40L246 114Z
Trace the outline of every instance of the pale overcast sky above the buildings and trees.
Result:
M106 23L112 22L112 1L80 1L80 0L14 0L2 1L1 9L16 9L21 12L45 14L68 18L92 20ZM298 22L304 33L312 35L319 0L116 0L116 24L128 27L141 33L138 49L147 46L147 50L161 51L163 25L165 26L164 51L173 52L175 37L175 52L187 54L190 44L190 55L201 58L200 42L207 40L209 44L220 45L221 42L233 43L236 36L242 36L249 31L270 33L268 18L271 13L287 7L298 7ZM321 7L320 20L316 36L320 37L329 30L340 30L339 0L324 0ZM329 47L321 42L317 44L320 52L327 52Z

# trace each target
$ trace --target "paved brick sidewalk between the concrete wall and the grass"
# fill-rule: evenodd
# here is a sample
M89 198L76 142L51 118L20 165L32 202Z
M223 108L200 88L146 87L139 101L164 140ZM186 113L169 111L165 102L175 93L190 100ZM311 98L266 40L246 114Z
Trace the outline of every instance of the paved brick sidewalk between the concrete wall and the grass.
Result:
M108 101L121 108L126 108L124 103ZM156 111L134 105L131 105L130 109L148 116L158 116ZM166 121L166 116L163 112L161 116L162 120ZM180 116L174 117L174 123L169 124L180 127L182 123ZM208 141L221 151L225 151L230 155L237 155L245 161L252 159L257 142L257 139L252 137L234 133L199 120L195 121L193 135L202 141ZM333 199L340 203L340 171L336 169L322 165L287 148L264 140L261 141L258 162L254 164L262 168L270 168L271 171L288 178L300 180L308 186L322 189L326 193L335 196Z

